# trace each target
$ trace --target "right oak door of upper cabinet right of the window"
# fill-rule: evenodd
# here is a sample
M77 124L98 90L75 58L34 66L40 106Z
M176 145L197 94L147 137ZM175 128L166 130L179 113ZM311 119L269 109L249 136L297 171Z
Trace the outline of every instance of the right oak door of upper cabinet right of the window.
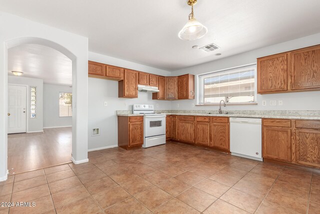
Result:
M320 89L320 46L291 52L292 90Z

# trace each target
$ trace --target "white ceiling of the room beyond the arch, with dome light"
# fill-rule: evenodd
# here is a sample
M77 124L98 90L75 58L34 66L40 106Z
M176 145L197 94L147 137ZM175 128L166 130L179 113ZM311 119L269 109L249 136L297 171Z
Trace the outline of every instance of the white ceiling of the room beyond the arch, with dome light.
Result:
M43 83L72 85L72 61L55 49L35 44L8 49L8 75L43 79Z

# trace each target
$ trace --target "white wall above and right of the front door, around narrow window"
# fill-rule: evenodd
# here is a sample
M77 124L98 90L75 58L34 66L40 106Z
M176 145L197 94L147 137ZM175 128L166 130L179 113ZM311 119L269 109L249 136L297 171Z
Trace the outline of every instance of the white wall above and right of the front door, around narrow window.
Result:
M28 117L27 132L43 131L43 80L28 77L8 76L8 84L27 85L26 116ZM36 87L36 117L30 118L30 86Z

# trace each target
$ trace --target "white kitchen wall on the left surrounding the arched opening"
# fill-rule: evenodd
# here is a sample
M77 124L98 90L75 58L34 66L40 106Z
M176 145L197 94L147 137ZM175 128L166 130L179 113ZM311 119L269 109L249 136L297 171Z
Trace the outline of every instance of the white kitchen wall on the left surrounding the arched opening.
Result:
M72 60L72 159L87 161L88 39L0 12L0 180L7 173L7 49L21 44L54 48Z

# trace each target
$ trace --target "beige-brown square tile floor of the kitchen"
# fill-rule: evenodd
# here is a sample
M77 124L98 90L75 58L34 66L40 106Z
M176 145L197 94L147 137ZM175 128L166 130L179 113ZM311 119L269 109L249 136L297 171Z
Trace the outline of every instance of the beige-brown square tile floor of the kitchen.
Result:
M320 213L320 174L177 143L9 176L0 213Z

